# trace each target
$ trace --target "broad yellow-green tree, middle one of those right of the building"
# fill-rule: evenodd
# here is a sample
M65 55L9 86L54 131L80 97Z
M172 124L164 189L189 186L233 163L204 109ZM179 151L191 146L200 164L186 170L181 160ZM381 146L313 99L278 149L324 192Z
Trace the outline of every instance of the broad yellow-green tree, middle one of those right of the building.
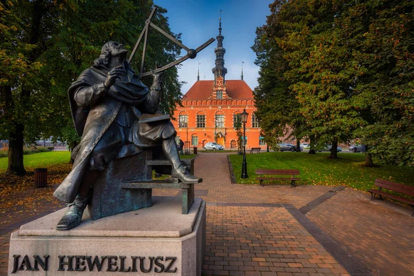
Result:
M303 7L295 7L301 11ZM365 69L355 60L353 36L342 28L346 1L314 2L307 6L304 20L286 28L288 35L278 40L285 50L290 71L286 77L293 81L300 110L311 124L319 146L353 138L354 130L366 126L359 111L366 107L358 95L359 76ZM331 158L337 158L336 150Z

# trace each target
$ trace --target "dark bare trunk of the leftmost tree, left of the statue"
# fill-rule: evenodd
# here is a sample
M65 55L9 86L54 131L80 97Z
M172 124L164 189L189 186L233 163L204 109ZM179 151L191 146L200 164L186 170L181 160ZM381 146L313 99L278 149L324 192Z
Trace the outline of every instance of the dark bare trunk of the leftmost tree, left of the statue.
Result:
M8 175L26 175L23 165L23 124L15 124L14 131L10 130L9 138L9 155L8 167L6 174Z

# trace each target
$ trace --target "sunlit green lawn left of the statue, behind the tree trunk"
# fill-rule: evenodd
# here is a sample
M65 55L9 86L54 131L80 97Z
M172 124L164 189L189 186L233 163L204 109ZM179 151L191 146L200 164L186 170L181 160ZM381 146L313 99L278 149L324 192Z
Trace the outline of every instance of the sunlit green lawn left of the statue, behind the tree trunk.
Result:
M47 168L52 165L65 164L70 160L68 151L39 152L32 155L24 155L23 164L26 170L35 168ZM0 172L6 172L8 157L0 158Z

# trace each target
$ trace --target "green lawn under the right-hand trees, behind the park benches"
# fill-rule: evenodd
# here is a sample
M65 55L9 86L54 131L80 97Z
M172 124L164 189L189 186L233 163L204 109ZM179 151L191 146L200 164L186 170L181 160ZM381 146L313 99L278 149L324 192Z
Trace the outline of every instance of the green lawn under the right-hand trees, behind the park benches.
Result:
M248 178L242 179L242 155L230 155L237 183L258 184L255 170L297 169L300 170L298 184L350 186L359 190L373 187L377 178L414 186L414 168L407 166L380 166L366 168L364 155L359 153L340 153L339 159L328 159L329 152L262 152L246 154ZM275 181L274 183L280 183Z

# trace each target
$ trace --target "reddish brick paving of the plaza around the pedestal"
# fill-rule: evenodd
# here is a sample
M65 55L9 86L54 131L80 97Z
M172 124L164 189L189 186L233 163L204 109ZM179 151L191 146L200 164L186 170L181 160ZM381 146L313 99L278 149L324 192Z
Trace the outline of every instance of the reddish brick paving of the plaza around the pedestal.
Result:
M231 184L226 153L200 153L195 172L207 201L204 275L414 275L411 208L351 188ZM0 228L0 276L10 233L36 216L15 217Z

